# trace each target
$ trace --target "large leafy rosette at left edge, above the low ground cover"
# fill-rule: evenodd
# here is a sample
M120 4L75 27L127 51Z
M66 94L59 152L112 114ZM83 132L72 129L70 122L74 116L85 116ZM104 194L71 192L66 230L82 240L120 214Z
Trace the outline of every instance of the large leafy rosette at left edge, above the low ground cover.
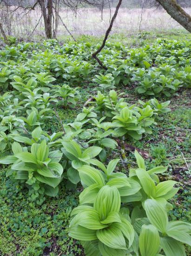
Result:
M13 155L0 159L1 164L12 164L7 175L16 172L15 179L24 180L28 185L39 181L45 188L45 194L55 196L58 194L58 185L62 179L63 167L59 163L62 153L49 152L46 141L40 144L33 143L31 152L22 148L18 142L12 144Z

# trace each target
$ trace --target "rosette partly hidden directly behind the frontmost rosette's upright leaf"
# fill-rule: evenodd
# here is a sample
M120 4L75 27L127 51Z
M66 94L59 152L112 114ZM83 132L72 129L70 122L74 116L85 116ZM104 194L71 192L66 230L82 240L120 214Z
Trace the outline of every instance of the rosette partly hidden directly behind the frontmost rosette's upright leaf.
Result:
M97 159L91 159L88 162L99 169L88 165L78 168L81 183L85 188L79 195L80 204L93 203L99 189L105 185L116 187L122 202L141 200L142 195L139 192L141 185L135 179L127 178L124 173L114 172L119 159L111 160L107 168Z

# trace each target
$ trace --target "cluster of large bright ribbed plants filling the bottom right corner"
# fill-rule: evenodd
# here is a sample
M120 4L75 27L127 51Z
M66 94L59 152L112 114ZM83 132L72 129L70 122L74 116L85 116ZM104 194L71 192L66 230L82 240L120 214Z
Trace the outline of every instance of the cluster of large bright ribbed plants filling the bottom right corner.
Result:
M144 159L137 151L135 156L138 168L130 170L131 178L113 173L117 159L112 160L107 168L92 161L105 172L104 175L89 166L78 169L82 184L87 188L79 196L81 205L72 210L71 216L74 217L69 235L82 240L86 255L140 253L141 256L154 256L161 249L167 256L185 255L182 243L191 244L191 225L181 221L169 222L167 214L172 209L167 200L177 193L178 188L173 188L177 182L159 182L157 174L167 168L158 166L146 171ZM105 175L109 178L106 184ZM131 179L139 182L138 190L131 188L133 183L128 183ZM128 190L132 194L122 196L125 192L128 194ZM126 204L121 205L121 202Z

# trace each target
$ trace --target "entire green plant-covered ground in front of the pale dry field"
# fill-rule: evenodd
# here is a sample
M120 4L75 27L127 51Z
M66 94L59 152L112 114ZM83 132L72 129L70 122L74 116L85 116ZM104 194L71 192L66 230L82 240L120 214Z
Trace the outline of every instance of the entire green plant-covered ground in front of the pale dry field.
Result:
M0 56L0 253L189 255L191 41Z

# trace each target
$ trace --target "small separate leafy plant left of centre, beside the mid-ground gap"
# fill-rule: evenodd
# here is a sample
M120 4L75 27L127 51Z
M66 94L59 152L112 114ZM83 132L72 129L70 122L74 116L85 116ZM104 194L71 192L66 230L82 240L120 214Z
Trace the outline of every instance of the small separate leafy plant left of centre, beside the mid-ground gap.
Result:
M57 105L62 105L64 108L74 108L76 102L81 98L78 88L71 88L69 85L64 84L62 86L56 85L54 89L55 97L59 97Z

